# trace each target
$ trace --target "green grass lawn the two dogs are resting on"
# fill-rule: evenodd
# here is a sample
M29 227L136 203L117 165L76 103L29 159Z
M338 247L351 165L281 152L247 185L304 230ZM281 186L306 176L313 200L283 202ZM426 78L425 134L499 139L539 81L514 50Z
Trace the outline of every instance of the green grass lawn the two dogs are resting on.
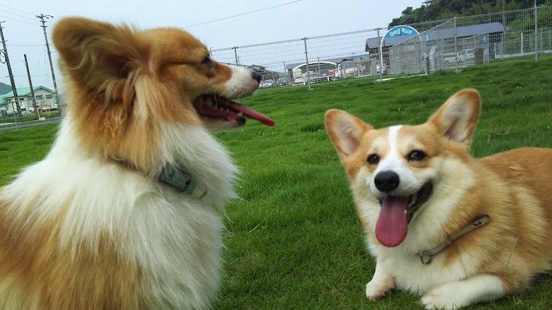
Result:
M376 83L350 79L314 90L282 87L242 101L276 122L216 135L242 167L241 199L226 205L226 274L215 309L417 309L393 291L369 302L368 256L348 183L326 136L324 112L346 110L375 127L426 121L451 94L474 87L482 116L473 154L552 147L552 61L464 68ZM0 183L46 154L55 125L0 132ZM528 293L469 309L551 309L552 276Z

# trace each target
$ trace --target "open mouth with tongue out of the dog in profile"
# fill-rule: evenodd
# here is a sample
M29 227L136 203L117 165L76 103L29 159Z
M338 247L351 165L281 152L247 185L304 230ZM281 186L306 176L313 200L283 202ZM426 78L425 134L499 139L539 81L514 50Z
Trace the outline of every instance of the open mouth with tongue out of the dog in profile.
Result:
M255 119L264 125L274 126L274 121L259 112L235 103L216 94L200 96L193 103L195 110L204 118L215 118L243 126L246 118Z

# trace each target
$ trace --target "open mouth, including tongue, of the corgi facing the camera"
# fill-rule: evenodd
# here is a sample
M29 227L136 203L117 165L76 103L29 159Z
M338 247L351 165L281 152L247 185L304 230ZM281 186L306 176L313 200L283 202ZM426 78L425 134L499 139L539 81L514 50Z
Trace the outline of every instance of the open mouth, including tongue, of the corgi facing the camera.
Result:
M375 236L382 245L396 247L408 233L408 223L415 212L426 203L433 193L431 181L422 185L411 196L386 196L380 200L382 209L375 225Z

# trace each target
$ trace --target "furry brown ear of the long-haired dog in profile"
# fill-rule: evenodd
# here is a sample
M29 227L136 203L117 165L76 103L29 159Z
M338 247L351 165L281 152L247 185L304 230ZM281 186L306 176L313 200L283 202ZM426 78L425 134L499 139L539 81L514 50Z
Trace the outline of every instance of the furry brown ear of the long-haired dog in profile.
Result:
M116 91L124 85L117 81L146 63L146 45L126 26L69 17L57 22L52 39L63 70L84 89Z

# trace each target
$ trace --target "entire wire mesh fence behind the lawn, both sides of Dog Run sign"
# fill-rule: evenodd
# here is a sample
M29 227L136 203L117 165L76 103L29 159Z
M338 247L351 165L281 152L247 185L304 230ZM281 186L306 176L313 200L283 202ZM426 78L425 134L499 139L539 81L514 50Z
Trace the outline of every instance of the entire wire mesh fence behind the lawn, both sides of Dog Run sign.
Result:
M210 52L216 61L261 73L259 87L267 90L552 57L552 6L410 26L419 34L385 37L387 28L375 28Z

